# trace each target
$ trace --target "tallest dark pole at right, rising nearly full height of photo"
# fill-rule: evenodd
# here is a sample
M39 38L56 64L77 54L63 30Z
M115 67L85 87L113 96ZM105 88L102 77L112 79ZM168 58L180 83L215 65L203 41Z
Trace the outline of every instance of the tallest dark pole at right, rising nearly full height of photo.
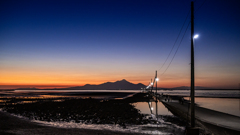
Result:
M195 127L195 84L194 84L194 7L193 1L191 2L191 127Z

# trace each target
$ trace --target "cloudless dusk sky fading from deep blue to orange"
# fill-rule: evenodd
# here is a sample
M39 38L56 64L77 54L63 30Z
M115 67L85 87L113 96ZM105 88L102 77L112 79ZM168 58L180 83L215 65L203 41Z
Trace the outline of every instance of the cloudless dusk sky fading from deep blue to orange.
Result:
M194 1L196 86L240 87L239 5ZM191 0L1 0L0 89L148 85L156 71L158 87L190 86L190 8Z

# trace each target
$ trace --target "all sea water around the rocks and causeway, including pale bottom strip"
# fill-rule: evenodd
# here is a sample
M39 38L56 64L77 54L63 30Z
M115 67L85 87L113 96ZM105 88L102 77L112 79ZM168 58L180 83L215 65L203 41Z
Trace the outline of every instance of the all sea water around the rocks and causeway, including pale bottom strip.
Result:
M39 97L39 98L54 98L54 97L81 97L89 98L86 93L129 93L132 96L134 93L142 92L140 90L13 90L0 91L0 104L4 103L1 98L6 97ZM154 91L155 92L155 91ZM183 96L184 99L190 100L190 90L158 90L159 94ZM121 94L120 94L121 95ZM121 99L128 97L126 95L91 95L91 98L96 99ZM200 107L212 109L215 111L231 114L240 117L240 90L195 90L195 103ZM136 102L133 103L135 108L151 119L157 119L158 123L146 125L128 125L127 128L122 128L119 125L111 124L84 124L74 122L45 122L32 120L34 122L54 127L61 128L85 128L97 130L113 130L126 133L147 133L147 134L184 134L185 127L174 122L165 121L164 118L175 118L161 102ZM156 113L157 112L157 113ZM156 115L157 114L157 115ZM15 114L13 114L15 115ZM21 117L22 116L18 116ZM26 118L27 119L27 118ZM167 129L167 130L161 130Z

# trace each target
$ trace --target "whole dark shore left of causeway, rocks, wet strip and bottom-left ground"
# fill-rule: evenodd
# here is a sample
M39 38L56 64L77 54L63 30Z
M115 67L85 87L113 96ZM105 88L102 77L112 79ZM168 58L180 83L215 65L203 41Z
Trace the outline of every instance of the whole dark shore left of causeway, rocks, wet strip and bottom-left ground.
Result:
M152 134L152 132L183 133L185 124L179 118L158 116L166 121L162 121L162 123L155 118L149 119L153 116L144 115L131 105L135 102L148 102L150 98L147 93L137 93L124 99L66 99L66 102L40 100L39 103L6 105L2 110L7 112L0 111L0 134L48 135L61 132L61 134L81 135L142 135ZM10 102L14 103L17 100L12 101ZM87 106L84 107L84 105ZM6 121L6 119L8 120ZM159 128L156 128L157 123ZM181 125L178 127L179 123Z

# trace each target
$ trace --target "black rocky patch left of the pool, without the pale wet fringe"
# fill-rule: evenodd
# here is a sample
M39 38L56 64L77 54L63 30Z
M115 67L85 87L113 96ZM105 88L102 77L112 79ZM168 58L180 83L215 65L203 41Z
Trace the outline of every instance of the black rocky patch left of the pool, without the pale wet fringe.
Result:
M41 101L27 104L11 104L4 106L3 111L18 114L29 119L40 121L64 121L85 124L119 124L123 128L126 124L147 124L148 119L140 114L129 102L134 99L149 100L143 93L125 100L98 100L98 99L66 99Z

